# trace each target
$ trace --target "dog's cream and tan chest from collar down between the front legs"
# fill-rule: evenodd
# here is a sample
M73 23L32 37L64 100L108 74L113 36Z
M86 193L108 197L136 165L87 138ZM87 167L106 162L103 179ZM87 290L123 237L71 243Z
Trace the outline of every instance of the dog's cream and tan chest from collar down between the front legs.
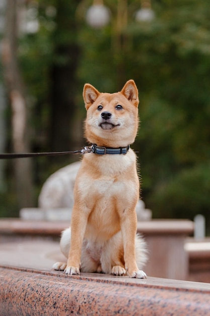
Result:
M83 172L84 164L90 166L89 173ZM103 241L120 230L119 213L123 213L129 207L130 199L138 194L136 172L127 181L124 179L127 169L133 164L135 154L132 149L121 156L107 154L97 157L97 160L95 154L84 157L78 172L75 199L79 199L84 212L88 213L86 237Z

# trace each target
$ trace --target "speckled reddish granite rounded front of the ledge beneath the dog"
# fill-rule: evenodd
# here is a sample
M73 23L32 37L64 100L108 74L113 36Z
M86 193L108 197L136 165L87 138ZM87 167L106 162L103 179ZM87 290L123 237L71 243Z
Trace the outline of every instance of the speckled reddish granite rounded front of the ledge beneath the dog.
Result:
M209 315L210 284L0 267L0 315Z

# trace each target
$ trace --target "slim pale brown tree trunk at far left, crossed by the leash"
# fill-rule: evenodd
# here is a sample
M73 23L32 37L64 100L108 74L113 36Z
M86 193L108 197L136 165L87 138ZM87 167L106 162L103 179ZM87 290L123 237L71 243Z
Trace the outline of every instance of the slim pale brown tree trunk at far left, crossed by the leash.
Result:
M15 152L28 152L28 109L17 59L18 19L22 1L7 0L6 31L3 41L3 67L12 110L12 143ZM32 165L30 159L14 161L18 206L33 206Z

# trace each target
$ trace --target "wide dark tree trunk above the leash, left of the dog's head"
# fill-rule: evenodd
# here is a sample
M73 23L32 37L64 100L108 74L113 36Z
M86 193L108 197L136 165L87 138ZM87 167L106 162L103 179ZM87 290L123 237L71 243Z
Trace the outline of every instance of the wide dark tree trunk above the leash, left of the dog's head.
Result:
M55 62L51 78L51 150L74 150L78 144L76 71L80 49L77 44L78 22L75 20L79 1L57 0L56 24L54 33Z

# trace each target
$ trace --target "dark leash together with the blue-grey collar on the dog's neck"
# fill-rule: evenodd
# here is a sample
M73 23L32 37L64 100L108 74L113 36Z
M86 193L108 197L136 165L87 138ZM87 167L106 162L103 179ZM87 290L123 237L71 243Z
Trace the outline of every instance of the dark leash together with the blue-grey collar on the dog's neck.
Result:
M127 147L109 148L102 147L93 144L91 147L85 146L81 150L75 151L56 151L56 152L28 152L28 153L0 153L0 159L17 159L17 158L29 158L29 157L42 157L42 156L58 156L64 154L85 154L93 152L97 154L126 154L129 150L130 145Z

